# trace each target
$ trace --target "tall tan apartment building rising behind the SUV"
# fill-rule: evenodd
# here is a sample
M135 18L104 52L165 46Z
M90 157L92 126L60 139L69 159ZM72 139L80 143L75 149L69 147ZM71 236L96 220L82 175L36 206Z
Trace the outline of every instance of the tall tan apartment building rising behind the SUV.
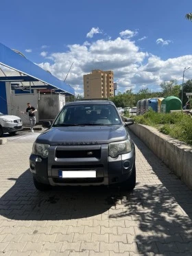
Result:
M84 99L102 99L114 96L113 72L95 69L84 75Z

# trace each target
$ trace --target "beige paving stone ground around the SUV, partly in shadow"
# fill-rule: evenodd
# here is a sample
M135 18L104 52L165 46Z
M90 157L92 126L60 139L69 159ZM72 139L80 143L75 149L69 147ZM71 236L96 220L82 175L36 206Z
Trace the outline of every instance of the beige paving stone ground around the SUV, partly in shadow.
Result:
M0 146L0 255L192 255L192 191L137 137L132 193L39 192L28 169L37 135Z

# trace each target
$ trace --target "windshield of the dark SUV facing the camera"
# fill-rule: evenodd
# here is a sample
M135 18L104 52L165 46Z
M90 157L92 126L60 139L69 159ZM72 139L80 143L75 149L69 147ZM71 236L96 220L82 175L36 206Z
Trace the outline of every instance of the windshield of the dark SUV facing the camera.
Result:
M65 106L53 126L111 126L122 124L115 106L104 104Z

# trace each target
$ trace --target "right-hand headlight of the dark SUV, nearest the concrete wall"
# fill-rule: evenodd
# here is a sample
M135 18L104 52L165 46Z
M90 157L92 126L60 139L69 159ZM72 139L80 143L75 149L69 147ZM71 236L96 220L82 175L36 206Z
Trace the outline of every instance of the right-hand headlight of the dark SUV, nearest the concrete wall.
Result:
M132 144L129 139L110 143L108 146L108 154L111 157L117 157L119 154L126 154L132 151Z

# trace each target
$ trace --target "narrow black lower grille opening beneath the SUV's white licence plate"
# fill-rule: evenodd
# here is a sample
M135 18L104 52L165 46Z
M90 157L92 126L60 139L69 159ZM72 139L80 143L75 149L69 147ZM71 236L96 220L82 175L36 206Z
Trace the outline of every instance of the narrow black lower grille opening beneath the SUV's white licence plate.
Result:
M101 178L53 178L54 183L102 183L104 177Z

